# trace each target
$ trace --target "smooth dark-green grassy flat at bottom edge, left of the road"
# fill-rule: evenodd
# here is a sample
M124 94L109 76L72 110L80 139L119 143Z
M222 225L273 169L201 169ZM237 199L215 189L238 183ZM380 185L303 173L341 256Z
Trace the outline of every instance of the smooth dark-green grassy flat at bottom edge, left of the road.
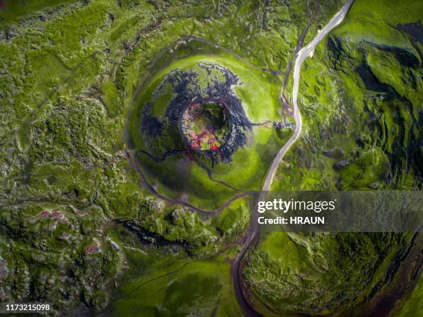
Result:
M202 260L187 258L182 243L164 240L156 247L151 242L161 240L160 236L142 238L120 225L115 231L129 270L122 276L123 287L113 293L107 313L183 316L192 311L216 311L218 316L241 316L229 275L229 259L236 256L236 247L225 247L220 255ZM190 305L180 305L181 300Z

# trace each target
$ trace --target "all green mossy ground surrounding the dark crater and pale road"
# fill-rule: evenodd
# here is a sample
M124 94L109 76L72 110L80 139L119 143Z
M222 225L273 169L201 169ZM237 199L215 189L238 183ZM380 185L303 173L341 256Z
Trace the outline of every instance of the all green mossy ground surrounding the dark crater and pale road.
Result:
M318 1L314 12L305 0L0 0L0 301L48 301L57 314L241 316L229 273L249 201L213 216L167 204L143 186L127 151L144 142L147 102L166 115L171 84L152 96L169 73L198 74L204 93L208 79L224 77L215 69L207 79L198 66L220 66L239 79L232 89L252 138L214 164L212 179L198 164L182 169L180 153L169 166L145 164L146 177L204 209L236 193L216 180L260 189L294 128L279 93L297 41L342 4ZM321 41L301 70L303 132L272 189L422 189L420 12L421 1L356 0ZM288 102L291 91L292 77ZM162 154L169 140L150 149ZM421 245L408 234L266 233L243 278L269 316L359 316L380 298L417 316L422 282L413 290L420 273L410 272L421 258L406 255ZM392 295L403 293L408 301Z

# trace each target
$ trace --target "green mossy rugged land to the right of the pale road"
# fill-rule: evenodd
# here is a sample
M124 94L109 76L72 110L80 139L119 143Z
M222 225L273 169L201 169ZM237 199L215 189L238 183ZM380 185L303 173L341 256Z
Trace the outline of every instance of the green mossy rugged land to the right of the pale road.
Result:
M303 132L273 189L422 189L421 44L400 26L417 21L421 5L373 6L355 1L345 22L303 64ZM409 239L270 233L250 255L245 278L262 302L286 313L360 316L378 285L384 285L379 297L399 307L401 300L388 291L395 284L388 272L397 269ZM408 271L418 262L408 264ZM411 276L397 282L405 281L415 282ZM419 311L406 309L409 316Z

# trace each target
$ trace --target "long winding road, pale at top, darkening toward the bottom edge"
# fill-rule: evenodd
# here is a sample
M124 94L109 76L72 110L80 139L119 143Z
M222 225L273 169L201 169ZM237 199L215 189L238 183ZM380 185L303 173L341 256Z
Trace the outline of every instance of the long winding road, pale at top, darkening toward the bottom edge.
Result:
M346 4L335 14L332 19L330 19L329 23L326 24L326 26L319 31L316 37L312 39L312 41L305 47L301 48L297 54L297 59L295 59L294 64L294 86L292 88L292 104L294 107L294 119L295 119L295 130L292 136L290 137L290 140L285 143L285 145L279 150L279 152L276 154L276 157L274 157L274 160L272 162L272 165L270 166L270 169L267 173L267 176L265 178L265 182L263 184L262 193L259 196L258 200L264 200L265 198L265 191L270 190L270 186L272 186L272 182L274 179L274 175L276 173L276 169L279 166L279 163L281 162L283 156L285 153L288 152L292 144L296 142L300 136L301 129L303 128L303 121L301 119L301 113L299 111L298 107L298 92L299 92L299 79L300 79L300 71L301 71L301 65L303 64L303 61L307 57L312 57L314 48L316 48L317 44L330 32L333 28L335 28L346 16L348 10L350 9L351 5L353 4L354 0L348 0ZM281 99L281 102L283 102L283 88L281 89L281 95L279 96L279 99ZM253 205L254 206L254 205ZM235 288L235 295L236 299L238 300L239 305L241 305L242 309L244 310L244 313L247 316L261 316L255 309L250 305L248 300L245 298L245 294L243 293L243 281L242 281L242 265L241 262L243 260L243 257L245 256L245 253L247 253L247 250L250 248L252 244L258 241L259 237L259 230L257 225L257 212L256 210L252 209L250 213L250 227L247 231L247 234L245 236L245 241L243 243L243 247L241 251L238 253L236 258L234 259L234 262L232 264L232 276L234 278L234 288Z

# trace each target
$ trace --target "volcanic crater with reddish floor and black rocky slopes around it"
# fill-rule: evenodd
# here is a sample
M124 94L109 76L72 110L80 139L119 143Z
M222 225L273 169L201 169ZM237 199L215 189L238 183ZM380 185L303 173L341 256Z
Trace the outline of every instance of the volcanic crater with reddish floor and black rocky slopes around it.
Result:
M252 134L252 123L232 90L238 84L234 73L216 64L168 73L142 111L144 144L161 152L151 156L186 151L189 157L204 155L212 166L230 162ZM157 100L163 95L169 99L167 107L160 105L160 109Z

